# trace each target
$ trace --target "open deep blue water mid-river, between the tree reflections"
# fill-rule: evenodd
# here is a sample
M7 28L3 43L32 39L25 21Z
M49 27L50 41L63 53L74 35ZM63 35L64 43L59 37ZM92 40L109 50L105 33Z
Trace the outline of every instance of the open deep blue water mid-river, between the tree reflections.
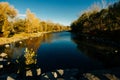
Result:
M90 59L77 48L71 33L53 33L50 42L43 42L38 51L38 63L43 70L80 68L81 70L100 68L101 63Z

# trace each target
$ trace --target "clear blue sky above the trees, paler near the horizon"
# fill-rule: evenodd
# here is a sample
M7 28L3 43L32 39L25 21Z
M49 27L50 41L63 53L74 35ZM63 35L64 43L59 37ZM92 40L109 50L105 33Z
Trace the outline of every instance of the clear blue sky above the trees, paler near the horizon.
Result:
M102 0L0 0L13 5L20 15L25 15L26 9L30 9L41 20L51 20L55 23L70 25L80 16L80 13L95 2ZM105 0L112 3L116 0Z

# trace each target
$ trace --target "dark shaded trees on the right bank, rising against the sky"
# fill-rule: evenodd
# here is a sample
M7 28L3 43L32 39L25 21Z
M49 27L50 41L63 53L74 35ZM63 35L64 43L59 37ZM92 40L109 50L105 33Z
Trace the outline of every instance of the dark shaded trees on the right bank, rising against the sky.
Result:
M94 6L71 24L72 32L83 34L120 34L120 1L105 9ZM103 34L104 35L104 34Z

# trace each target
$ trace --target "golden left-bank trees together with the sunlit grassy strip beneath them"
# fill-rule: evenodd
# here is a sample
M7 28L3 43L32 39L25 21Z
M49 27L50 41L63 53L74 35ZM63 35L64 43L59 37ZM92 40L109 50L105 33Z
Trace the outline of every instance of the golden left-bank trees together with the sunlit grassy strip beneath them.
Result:
M44 33L71 30L69 26L39 19L30 9L26 10L23 19L18 15L18 10L8 2L0 2L0 45L38 37Z

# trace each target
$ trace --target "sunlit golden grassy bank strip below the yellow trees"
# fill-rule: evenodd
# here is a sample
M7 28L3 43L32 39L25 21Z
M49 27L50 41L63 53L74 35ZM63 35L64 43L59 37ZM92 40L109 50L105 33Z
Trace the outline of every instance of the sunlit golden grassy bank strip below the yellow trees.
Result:
M0 37L0 45L9 44L12 42L17 42L17 41L21 41L21 40L29 39L33 37L39 37L39 36L42 36L44 33L48 33L48 32L38 32L38 33L22 32L22 33L13 35L10 38Z

